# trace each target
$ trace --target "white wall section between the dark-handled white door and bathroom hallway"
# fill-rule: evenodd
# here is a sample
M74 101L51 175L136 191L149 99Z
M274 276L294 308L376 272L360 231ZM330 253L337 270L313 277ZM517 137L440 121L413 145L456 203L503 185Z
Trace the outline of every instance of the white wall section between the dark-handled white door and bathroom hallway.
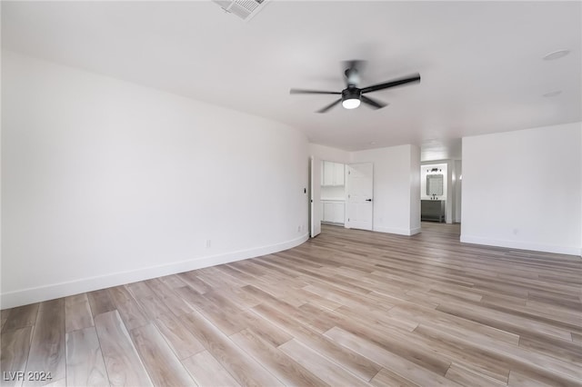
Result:
M419 233L419 148L406 144L353 152L351 161L374 164L374 231Z

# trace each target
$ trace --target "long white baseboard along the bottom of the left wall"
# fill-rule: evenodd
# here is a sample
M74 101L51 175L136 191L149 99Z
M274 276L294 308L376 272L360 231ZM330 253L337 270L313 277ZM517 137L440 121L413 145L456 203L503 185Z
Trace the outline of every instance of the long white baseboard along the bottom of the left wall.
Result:
M23 289L15 292L2 293L0 295L0 305L2 309L14 308L15 306L29 303L40 303L46 300L65 297L68 295L92 292L117 286L125 283L135 283L137 281L149 280L151 278L164 275L188 272L190 270L202 269L204 267L215 266L222 263L241 261L270 253L277 253L298 246L306 242L308 234L303 234L296 239L283 243L270 244L254 249L239 250L231 253L223 253L198 257L196 259L168 263L163 265L150 266L129 272L111 273L95 277L86 277L80 280L65 283L54 283L35 288Z

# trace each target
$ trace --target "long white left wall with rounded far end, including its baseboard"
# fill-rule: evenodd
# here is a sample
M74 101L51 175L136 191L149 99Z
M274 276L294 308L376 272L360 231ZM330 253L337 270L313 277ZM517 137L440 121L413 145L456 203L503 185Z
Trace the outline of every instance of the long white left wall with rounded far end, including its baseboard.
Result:
M2 82L3 308L306 240L295 129L9 52Z

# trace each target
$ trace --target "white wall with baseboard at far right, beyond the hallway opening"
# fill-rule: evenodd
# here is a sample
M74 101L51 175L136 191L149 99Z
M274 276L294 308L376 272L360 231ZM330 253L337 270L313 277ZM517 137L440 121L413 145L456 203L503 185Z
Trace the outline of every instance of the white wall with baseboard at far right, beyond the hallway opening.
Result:
M463 139L461 241L581 253L581 124Z

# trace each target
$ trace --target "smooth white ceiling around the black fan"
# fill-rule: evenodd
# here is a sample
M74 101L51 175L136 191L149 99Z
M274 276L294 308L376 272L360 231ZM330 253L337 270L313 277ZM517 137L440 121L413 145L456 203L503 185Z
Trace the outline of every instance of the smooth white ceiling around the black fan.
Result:
M272 0L248 23L212 2L2 2L2 45L292 125L346 150L423 146L460 157L459 138L580 121L580 2ZM564 58L547 53L568 49ZM314 113L340 91L341 62L389 103ZM562 93L544 97L553 91Z

